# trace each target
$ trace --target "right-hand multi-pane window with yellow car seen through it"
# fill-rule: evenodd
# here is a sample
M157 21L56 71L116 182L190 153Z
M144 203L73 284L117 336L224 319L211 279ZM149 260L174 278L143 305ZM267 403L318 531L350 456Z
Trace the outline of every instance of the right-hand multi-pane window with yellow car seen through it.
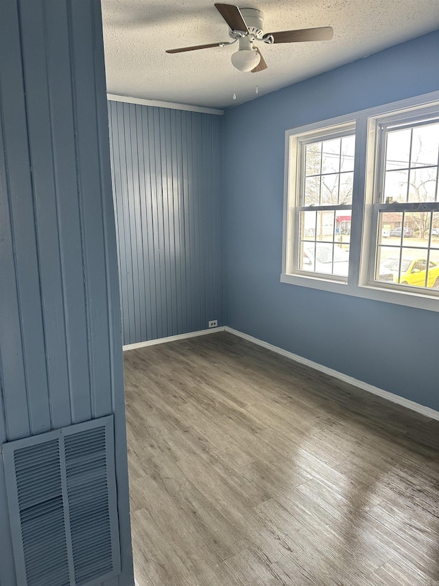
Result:
M378 121L377 142L372 281L439 289L439 119Z

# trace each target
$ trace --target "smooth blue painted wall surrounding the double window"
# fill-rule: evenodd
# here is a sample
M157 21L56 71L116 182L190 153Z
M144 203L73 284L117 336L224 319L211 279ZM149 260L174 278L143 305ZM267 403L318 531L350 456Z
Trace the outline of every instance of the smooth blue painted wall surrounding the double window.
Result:
M285 131L438 89L436 31L224 115L226 324L433 409L439 313L279 278Z

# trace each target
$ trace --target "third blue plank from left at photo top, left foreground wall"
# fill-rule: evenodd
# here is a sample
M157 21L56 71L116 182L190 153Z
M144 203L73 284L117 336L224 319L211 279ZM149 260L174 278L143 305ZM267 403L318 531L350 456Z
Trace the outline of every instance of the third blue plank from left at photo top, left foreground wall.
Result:
M82 270L82 228L75 160L75 131L71 116L73 111L72 80L64 63L69 61L69 46L62 42L69 35L69 14L65 3L55 3L46 10L47 27L53 31L47 36L47 84L51 111L51 139L54 150L54 184L56 197L64 194L62 205L58 202L58 226L62 238L69 247L60 247L60 265L63 281L64 319L69 331L67 357L69 363L69 388L71 420L79 422L91 416L89 396L88 337L86 324L86 299ZM56 123L54 123L56 121ZM78 319L78 315L80 319ZM71 376L71 373L75 373Z

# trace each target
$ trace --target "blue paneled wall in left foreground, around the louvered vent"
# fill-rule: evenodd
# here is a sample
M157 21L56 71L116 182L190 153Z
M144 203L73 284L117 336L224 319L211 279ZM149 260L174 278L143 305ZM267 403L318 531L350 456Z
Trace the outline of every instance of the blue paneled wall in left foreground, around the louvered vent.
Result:
M115 414L134 583L98 0L0 2L0 444ZM0 584L15 586L0 465Z

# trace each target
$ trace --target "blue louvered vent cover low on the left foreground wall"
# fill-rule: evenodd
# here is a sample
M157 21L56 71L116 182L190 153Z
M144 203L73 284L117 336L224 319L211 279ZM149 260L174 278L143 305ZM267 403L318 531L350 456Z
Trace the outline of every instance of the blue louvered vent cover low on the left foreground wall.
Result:
M112 415L3 444L19 586L120 573Z

